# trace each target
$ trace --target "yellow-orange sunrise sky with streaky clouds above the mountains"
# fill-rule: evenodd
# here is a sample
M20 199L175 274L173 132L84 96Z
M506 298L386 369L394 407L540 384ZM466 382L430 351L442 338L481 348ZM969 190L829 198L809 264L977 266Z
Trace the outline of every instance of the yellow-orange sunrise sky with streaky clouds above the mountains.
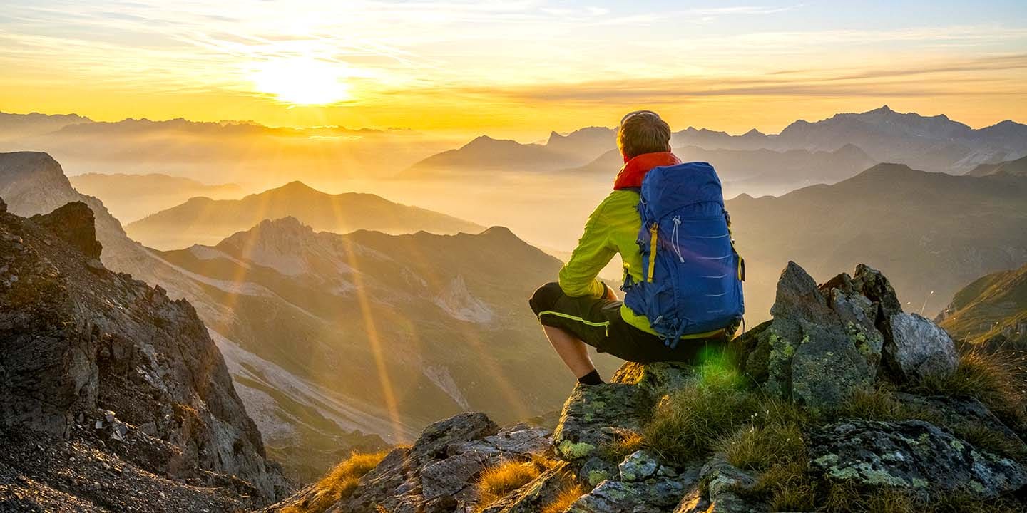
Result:
M0 111L544 137L1027 121L1027 2L0 0Z

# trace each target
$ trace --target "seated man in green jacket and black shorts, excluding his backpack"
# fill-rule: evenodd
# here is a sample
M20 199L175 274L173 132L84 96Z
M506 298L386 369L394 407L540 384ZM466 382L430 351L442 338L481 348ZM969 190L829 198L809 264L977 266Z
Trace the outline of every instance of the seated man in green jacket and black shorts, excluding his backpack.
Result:
M643 179L650 169L681 163L671 153L671 127L651 111L633 112L621 119L617 148L624 165L613 192L588 216L577 248L560 271L560 281L543 285L529 302L553 347L584 385L603 383L587 346L630 361L691 361L707 345L722 344L727 332L720 329L681 344L665 344L667 337L660 337L645 315L618 301L597 279L619 253L625 281L644 280L638 209Z

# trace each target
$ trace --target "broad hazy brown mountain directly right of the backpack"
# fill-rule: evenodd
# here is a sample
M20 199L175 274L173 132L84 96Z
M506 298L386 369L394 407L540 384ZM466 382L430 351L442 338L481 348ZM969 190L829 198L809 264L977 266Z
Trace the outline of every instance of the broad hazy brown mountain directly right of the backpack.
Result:
M727 209L748 265L751 320L766 317L776 270L789 260L822 277L865 262L891 277L910 310L931 315L974 278L1027 262L1024 177L878 164L831 186L743 195Z

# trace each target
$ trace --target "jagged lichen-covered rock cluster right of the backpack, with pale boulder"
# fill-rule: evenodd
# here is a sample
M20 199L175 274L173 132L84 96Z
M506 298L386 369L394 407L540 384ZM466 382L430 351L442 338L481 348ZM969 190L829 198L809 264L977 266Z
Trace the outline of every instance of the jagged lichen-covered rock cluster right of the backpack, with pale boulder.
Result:
M809 408L836 408L880 374L914 382L956 367L948 333L902 312L887 278L865 265L816 285L790 262L770 313L734 341L735 357L754 381Z

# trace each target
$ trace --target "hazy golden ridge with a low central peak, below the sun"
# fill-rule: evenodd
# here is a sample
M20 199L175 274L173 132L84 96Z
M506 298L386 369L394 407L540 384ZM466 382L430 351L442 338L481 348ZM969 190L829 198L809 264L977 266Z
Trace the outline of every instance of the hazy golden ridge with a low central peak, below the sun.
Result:
M424 208L393 203L374 194L327 194L301 182L237 200L192 198L126 227L150 247L180 248L212 243L266 219L295 216L317 230L347 233L479 232L482 227Z

